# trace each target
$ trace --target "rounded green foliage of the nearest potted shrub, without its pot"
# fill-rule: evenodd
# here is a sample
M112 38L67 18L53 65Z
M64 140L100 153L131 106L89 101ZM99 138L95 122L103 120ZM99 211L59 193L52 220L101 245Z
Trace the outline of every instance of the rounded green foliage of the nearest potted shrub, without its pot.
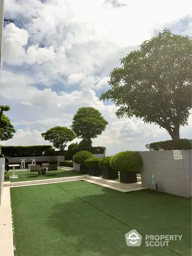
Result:
M139 151L123 151L110 159L110 167L115 171L140 172L142 158Z

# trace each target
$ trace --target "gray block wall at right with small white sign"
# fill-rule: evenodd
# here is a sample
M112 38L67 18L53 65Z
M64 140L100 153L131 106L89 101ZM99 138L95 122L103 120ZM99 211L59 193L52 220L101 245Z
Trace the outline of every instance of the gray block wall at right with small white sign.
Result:
M154 175L158 190L184 197L192 196L192 150L181 150L183 159L175 160L173 150L143 151L142 184L148 187ZM149 185L155 189L153 185Z

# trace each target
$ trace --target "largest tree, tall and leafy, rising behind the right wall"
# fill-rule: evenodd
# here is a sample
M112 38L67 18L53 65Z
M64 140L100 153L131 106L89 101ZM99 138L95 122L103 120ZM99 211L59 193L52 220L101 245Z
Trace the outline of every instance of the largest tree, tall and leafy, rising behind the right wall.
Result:
M100 100L111 99L118 118L153 122L179 139L192 108L192 38L165 29L120 61Z

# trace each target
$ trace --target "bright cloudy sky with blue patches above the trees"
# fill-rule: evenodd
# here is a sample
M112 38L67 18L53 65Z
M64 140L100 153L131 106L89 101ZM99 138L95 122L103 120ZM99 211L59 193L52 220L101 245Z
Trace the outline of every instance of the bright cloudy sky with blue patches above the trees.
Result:
M0 105L16 134L3 145L50 144L41 133L70 128L80 107L94 107L108 121L93 146L107 154L146 150L171 139L165 129L134 117L118 119L111 101L100 101L120 58L165 27L192 36L191 0L5 0ZM182 138L192 138L189 126ZM80 141L75 139L75 141Z

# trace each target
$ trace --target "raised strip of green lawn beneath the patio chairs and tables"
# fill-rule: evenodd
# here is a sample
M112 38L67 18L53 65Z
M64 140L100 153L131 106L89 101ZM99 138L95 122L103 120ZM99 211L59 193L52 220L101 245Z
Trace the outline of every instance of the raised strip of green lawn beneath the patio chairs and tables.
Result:
M65 171L63 169L58 169L56 171L50 171L48 172L48 175L37 175L37 173L35 173L35 175L25 175L26 171L15 171L15 175L18 175L18 179L9 179L9 176L12 175L12 172L8 172L5 174L5 182L25 182L25 181L36 181L36 180L44 180L44 179L57 179L57 178L63 178L63 177L71 177L71 176L81 176L84 174L80 174L79 171Z

